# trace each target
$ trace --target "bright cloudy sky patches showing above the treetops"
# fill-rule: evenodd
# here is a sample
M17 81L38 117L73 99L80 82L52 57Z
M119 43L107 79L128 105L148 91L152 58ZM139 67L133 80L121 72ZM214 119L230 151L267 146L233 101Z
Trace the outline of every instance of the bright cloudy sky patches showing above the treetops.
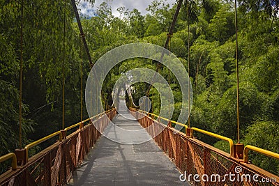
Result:
M137 10L140 10L142 15L145 15L147 11L145 10L149 4L151 4L153 0L113 0L112 1L112 15L119 16L119 12L116 10L117 8L121 6L125 6L125 8L129 10L133 10L134 8L137 8ZM80 3L79 8L81 9L81 13L83 15L87 16L93 16L94 10L102 3L103 0L96 0L94 7L90 6L88 2L82 1ZM172 5L172 3L175 2L175 0L167 0L167 2Z

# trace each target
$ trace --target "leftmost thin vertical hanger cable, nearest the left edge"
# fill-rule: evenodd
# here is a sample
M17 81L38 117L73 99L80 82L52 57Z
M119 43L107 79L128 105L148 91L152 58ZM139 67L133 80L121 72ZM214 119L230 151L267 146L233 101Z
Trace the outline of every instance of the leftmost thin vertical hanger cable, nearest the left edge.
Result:
M21 26L20 26L20 113L19 113L19 143L20 148L22 148L22 63L23 63L23 6L24 0L22 0L21 6Z

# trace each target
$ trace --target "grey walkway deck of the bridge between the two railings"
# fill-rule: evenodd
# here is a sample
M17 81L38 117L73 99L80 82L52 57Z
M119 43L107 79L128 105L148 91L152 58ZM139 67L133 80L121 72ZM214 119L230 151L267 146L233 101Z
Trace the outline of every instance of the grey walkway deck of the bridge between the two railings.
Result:
M126 112L116 116L113 123L126 130L142 129L140 123L128 120L126 116L133 117ZM114 124L110 123L105 130L107 136L115 135ZM135 138L138 140L147 135L142 132ZM130 137L119 134L118 138ZM179 181L180 174L153 140L129 145L102 136L69 185L188 185Z

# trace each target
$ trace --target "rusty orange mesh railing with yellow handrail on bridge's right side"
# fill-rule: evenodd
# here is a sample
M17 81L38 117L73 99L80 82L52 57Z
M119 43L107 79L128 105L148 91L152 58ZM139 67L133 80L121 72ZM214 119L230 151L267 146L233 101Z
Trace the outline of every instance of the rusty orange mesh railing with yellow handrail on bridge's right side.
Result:
M188 175L192 175L190 177L190 183L195 183L195 185L279 185L279 177L274 175L273 173L269 173L264 169L260 169L259 167L246 163L248 160L244 160L241 158L236 158L235 154L225 153L218 148L214 148L209 144L206 144L198 139L195 139L192 135L188 135L184 132L179 132L174 129L172 125L165 125L160 123L160 116L154 116L154 114L146 114L145 111L139 111L137 109L130 109L131 114L137 118L137 121L140 122L142 127L146 129L151 137L153 137L156 144L169 156L169 158L176 164L177 168L181 173L186 173ZM153 116L153 118L151 117ZM154 117L157 119L154 119ZM162 119L162 118L161 118ZM168 120L167 120L168 121ZM181 123L181 125L183 125ZM189 130L189 128L187 128ZM194 128L197 132L204 132L204 130L199 130ZM157 136L157 132L160 132ZM209 134L211 135L211 133ZM214 134L214 137L216 135ZM218 138L223 138L222 136ZM225 139L224 139L225 140ZM230 141L227 139L227 141ZM230 148L232 147L232 141L229 142ZM235 144L234 144L235 147ZM262 153L269 157L277 158L277 153L272 153L268 150L264 150L261 148L255 148L252 146L246 146L244 149L244 158L248 157L248 151L254 150L257 153ZM269 153L270 152L270 153ZM239 171L240 170L240 171ZM216 180L215 182L211 182L210 180L202 180L200 182L195 182L193 179L194 175L207 175L209 176L220 176L220 180ZM235 180L225 179L227 176L232 174L235 176ZM239 176L239 177L237 177ZM254 176L254 177L253 177ZM252 178L257 178L254 180ZM205 177L206 178L206 177ZM250 178L250 180L249 180ZM267 179L266 179L267 178ZM262 180L270 180L270 182L264 182Z

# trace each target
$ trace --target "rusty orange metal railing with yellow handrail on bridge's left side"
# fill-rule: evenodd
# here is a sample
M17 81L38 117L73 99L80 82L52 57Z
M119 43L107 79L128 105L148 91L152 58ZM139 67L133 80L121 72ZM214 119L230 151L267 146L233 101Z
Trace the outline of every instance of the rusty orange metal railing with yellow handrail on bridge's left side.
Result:
M115 115L116 110L111 109L77 123L78 125L75 124L66 128L70 130L82 125L68 136L59 131L34 141L20 151L19 154L27 157L27 159L26 157L23 158L21 166L16 166L16 162L20 162L22 158L15 156L18 152L0 157L0 162L13 158L13 170L10 169L0 175L0 185L66 185L72 178L77 166L82 163L86 154ZM89 122L89 124L83 125L82 123L85 122ZM95 126L98 126L98 130ZM29 148L57 135L59 135L61 141L56 141L56 143L36 153L36 155L28 157L27 151ZM24 160L27 161L24 162Z

